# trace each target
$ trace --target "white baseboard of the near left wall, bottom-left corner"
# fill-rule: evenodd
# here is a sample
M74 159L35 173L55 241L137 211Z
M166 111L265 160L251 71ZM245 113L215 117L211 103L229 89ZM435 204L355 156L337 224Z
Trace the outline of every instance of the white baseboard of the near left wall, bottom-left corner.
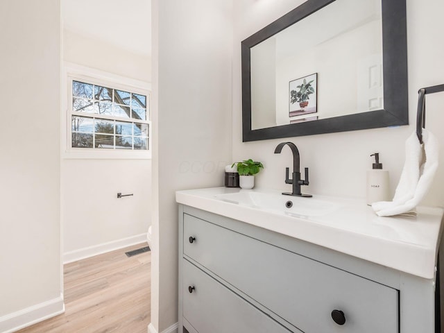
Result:
M12 333L65 312L63 296L0 317L0 332Z

